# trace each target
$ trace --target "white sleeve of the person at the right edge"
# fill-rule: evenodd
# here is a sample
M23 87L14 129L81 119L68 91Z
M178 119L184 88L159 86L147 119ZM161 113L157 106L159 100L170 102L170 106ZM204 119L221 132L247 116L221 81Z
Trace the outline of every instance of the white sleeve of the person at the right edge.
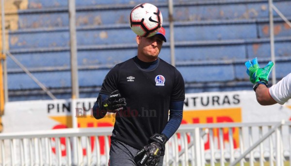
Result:
M291 73L269 88L271 97L279 104L291 99Z

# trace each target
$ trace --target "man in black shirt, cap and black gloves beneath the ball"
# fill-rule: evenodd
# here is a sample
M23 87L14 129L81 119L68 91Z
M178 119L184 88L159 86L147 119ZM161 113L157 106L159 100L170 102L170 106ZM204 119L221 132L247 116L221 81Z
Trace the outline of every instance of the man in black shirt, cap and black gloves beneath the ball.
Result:
M116 113L111 166L162 166L164 145L182 121L184 80L158 57L166 42L163 28L151 37L136 36L136 42L137 56L106 75L93 116Z

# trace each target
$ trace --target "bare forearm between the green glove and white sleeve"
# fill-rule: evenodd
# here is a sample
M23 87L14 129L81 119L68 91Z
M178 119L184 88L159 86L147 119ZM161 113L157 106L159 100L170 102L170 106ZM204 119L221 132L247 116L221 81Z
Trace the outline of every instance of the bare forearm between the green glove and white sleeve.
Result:
M257 87L256 97L260 105L273 105L277 103L277 101L275 101L271 97L269 93L269 88L267 88L267 86L263 84L259 84L259 86Z

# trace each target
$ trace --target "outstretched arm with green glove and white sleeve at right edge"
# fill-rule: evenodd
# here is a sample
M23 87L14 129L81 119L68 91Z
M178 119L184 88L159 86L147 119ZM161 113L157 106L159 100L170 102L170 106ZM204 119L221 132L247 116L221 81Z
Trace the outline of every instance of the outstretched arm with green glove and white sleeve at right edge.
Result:
M274 66L273 62L269 62L264 68L260 68L258 60L255 58L252 61L245 62L245 66L251 83L254 83L253 89L256 92L259 104L284 104L287 100L291 99L291 73L268 88L268 78Z

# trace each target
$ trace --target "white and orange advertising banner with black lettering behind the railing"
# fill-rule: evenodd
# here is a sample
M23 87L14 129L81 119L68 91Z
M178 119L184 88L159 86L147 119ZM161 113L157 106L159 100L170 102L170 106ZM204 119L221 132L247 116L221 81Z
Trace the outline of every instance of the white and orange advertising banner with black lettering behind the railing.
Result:
M115 115L108 113L102 119L92 116L95 98L78 99L76 117L78 127L110 127ZM8 102L2 116L3 133L72 128L71 100L33 100ZM124 115L129 116L129 115ZM291 102L284 105L261 106L254 91L209 92L186 94L183 124L229 122L279 122L291 119ZM238 129L234 129L234 148L238 148ZM224 132L225 141L227 134ZM214 136L217 137L217 131ZM100 143L101 147L104 141ZM205 149L209 142L205 140ZM100 149L101 154L104 148ZM64 153L65 155L65 153Z

